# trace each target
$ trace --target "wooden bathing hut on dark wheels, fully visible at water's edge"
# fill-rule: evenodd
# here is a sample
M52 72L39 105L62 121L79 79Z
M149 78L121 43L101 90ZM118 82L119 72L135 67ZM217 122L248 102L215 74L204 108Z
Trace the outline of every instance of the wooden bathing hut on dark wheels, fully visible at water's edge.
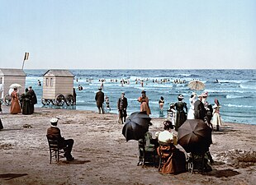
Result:
M69 70L50 69L43 76L42 104L73 105L73 74Z

